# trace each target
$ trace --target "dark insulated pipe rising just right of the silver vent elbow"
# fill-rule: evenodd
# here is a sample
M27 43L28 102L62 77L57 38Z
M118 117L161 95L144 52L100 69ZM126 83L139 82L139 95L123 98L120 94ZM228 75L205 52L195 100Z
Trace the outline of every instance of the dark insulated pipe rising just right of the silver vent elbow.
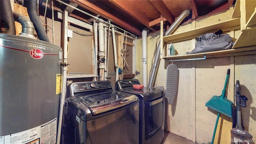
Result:
M36 33L38 35L39 40L50 42L46 34L46 31L41 24L40 18L37 14L37 11L38 11L37 0L26 0L26 2L27 2L28 15L36 28Z

